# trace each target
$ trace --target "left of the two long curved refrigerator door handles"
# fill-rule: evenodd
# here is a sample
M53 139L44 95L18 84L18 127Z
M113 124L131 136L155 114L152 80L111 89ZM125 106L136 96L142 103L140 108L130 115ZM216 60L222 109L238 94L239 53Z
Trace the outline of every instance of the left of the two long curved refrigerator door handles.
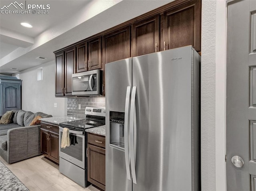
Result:
M128 145L130 95L131 95L131 87L128 86L126 89L126 100L125 100L125 111L124 111L124 158L125 158L125 166L126 166L126 175L128 180L131 180L129 145Z

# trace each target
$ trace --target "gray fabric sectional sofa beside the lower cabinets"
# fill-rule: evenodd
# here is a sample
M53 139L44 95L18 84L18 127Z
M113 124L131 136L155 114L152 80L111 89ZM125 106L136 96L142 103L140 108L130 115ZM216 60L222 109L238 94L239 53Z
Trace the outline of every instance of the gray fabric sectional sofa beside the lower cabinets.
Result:
M42 112L14 110L13 123L0 124L0 156L8 163L40 155L40 124L29 126L35 116L52 117Z

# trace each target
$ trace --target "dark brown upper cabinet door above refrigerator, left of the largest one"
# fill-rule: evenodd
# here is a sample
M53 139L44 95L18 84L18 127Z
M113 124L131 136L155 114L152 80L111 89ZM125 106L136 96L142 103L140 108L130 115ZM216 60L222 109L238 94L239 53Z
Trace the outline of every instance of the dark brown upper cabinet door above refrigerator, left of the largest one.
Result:
M132 24L132 57L159 51L159 16Z

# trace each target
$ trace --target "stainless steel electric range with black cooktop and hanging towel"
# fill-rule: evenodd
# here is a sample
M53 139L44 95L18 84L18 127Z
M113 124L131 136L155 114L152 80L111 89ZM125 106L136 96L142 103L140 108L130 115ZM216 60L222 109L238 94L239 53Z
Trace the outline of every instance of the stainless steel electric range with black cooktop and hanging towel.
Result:
M59 155L62 174L66 175L79 185L87 187L87 136L85 129L105 124L104 107L86 107L86 119L60 123ZM61 148L63 128L69 129L70 146Z

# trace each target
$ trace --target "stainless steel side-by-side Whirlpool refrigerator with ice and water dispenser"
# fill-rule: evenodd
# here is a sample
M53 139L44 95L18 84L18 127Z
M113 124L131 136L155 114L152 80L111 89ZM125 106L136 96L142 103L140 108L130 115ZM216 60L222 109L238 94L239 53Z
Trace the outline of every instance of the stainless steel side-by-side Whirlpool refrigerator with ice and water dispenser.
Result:
M192 46L106 64L106 191L200 189L199 67Z

